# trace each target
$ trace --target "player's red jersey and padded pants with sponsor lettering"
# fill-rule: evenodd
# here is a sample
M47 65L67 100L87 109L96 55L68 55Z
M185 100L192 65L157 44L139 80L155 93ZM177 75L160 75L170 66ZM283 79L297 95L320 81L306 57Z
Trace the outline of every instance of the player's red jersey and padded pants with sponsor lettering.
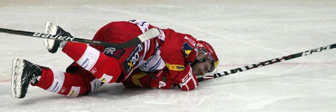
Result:
M112 22L102 27L93 40L122 43L133 39L141 33L154 28L141 20L129 22ZM169 69L169 77L175 80L186 65L196 59L196 39L189 34L175 32L172 29L160 29L161 34L132 48L115 48L90 45L111 58L117 58L125 77L123 82L135 68L144 72ZM186 72L187 73L187 72Z

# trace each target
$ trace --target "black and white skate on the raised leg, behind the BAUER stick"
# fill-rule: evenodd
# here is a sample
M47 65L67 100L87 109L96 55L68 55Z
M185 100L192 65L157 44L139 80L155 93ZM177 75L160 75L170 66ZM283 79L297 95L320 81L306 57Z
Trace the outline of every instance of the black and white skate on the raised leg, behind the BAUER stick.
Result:
M73 37L69 32L63 30L59 26L53 25L50 22L45 23L44 33ZM58 48L63 48L66 44L67 41L44 39L44 46L48 49L50 53L56 53Z

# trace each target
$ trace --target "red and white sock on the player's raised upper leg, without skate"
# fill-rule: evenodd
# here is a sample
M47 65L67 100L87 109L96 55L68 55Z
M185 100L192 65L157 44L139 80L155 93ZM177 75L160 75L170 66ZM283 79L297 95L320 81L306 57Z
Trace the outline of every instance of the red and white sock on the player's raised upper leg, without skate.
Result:
M122 73L117 59L110 58L86 44L68 42L62 51L103 83L116 82Z

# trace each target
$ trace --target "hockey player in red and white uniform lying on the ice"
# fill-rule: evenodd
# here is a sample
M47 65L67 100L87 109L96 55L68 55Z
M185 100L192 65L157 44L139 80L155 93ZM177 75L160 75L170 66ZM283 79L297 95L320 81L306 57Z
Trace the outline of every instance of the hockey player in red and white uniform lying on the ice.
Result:
M150 24L133 20L112 22L99 29L93 40L122 43L133 39ZM66 72L13 59L12 96L24 98L29 84L68 97L88 94L104 83L123 83L127 87L152 87L192 90L196 76L212 72L219 61L213 48L189 34L160 29L156 38L131 48L115 48L45 39L50 53L58 48L74 62ZM58 26L47 23L45 33L71 36ZM72 36L71 36L72 37Z

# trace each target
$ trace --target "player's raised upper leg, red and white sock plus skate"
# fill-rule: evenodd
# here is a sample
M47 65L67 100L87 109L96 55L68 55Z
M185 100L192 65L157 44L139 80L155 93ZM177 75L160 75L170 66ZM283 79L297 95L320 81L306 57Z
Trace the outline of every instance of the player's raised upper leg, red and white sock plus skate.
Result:
M102 31L100 30L101 33ZM45 33L71 36L67 31L51 23L46 24ZM63 48L64 53L103 83L114 83L121 75L122 69L117 59L110 58L87 44L51 39L45 39L44 43L50 53L55 53L58 48Z

